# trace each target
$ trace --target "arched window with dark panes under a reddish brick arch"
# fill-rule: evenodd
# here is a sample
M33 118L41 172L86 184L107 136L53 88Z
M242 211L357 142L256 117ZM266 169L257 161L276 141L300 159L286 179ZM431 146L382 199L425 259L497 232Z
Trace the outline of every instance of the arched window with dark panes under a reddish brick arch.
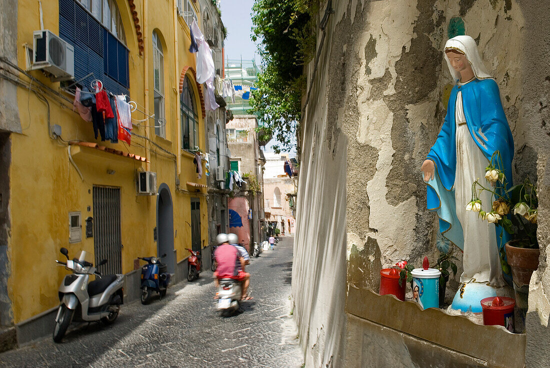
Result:
M182 148L195 150L199 146L199 114L195 104L195 92L188 76L183 81L180 95L180 118L182 119Z

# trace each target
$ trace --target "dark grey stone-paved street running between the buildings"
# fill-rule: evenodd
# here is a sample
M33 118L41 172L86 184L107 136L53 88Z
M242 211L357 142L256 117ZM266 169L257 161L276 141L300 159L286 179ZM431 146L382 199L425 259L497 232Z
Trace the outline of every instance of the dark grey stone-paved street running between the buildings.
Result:
M112 326L92 323L0 354L1 367L299 368L304 355L290 316L293 238L252 258L251 295L242 313L223 318L210 270L180 282L166 298L125 304ZM53 322L52 322L53 323Z

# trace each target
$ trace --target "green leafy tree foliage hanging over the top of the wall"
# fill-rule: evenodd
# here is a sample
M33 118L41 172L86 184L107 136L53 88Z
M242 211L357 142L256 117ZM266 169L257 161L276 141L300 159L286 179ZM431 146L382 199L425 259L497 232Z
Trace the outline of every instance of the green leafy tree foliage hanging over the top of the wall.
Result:
M256 0L252 40L261 40L262 71L250 98L275 151L289 149L301 118L304 64L315 53L315 14L319 0Z

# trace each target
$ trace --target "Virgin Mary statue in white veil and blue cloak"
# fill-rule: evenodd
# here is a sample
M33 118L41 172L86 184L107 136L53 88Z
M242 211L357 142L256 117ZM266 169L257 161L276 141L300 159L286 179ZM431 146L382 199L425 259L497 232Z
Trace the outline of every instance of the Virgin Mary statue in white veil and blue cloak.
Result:
M494 160L493 166L504 172L510 186L514 141L498 85L483 65L474 39L456 36L448 40L444 58L455 85L441 131L422 164L427 207L437 212L443 237L464 252L460 282L500 287L504 282L499 249L507 233L483 221L477 212L466 211L465 206L472 198L472 183L486 180L485 168L497 150L502 160ZM505 189L497 182L497 191ZM494 199L483 191L480 200L487 207Z

